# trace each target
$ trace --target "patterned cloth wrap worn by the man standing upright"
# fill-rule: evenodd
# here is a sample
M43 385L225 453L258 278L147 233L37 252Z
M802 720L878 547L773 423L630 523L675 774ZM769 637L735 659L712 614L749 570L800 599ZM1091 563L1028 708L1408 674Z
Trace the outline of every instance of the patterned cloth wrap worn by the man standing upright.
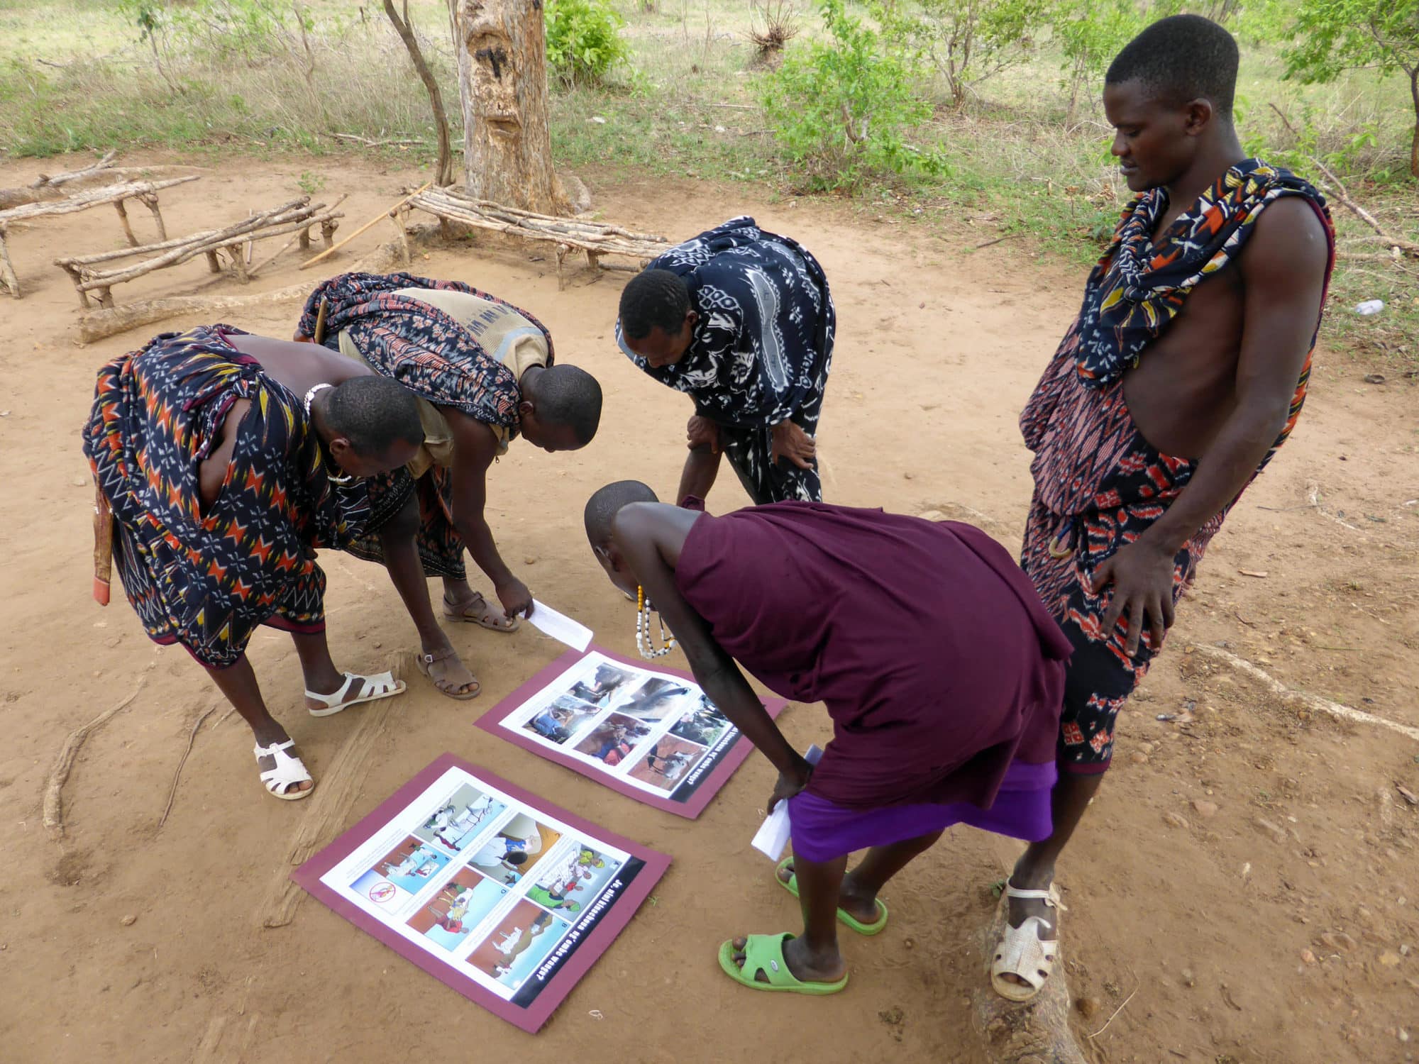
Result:
M1162 454L1142 437L1124 400L1122 376L1176 319L1193 288L1236 261L1261 211L1286 196L1304 197L1325 228L1328 287L1335 245L1330 211L1314 187L1287 170L1260 160L1233 166L1156 244L1152 233L1168 196L1162 189L1142 193L1124 210L1088 277L1078 318L1020 416L1025 443L1034 451L1034 498L1020 565L1074 644L1059 750L1064 770L1108 767L1114 718L1156 653L1145 630L1138 654L1128 655L1127 617L1114 631L1103 630L1111 589L1094 594L1090 577L1166 512L1198 468L1196 460ZM1314 349L1313 332L1290 416L1256 472L1296 427ZM1178 552L1175 603L1235 502Z

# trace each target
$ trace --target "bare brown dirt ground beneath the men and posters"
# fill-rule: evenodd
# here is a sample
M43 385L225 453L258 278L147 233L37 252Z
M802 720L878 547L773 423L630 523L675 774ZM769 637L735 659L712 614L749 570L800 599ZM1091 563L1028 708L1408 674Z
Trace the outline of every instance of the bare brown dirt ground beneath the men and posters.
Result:
M3 165L0 186L40 169ZM345 233L413 177L241 160L165 193L169 228L291 199L302 170L325 177L318 199L350 194ZM968 220L937 235L870 211L753 201L739 187L597 187L589 177L606 217L634 228L684 238L748 211L810 247L840 318L820 430L829 499L934 509L1017 543L1029 457L1016 416L1077 309L1081 275L1042 267L1010 243L973 250L995 231ZM133 218L150 231L145 211ZM348 268L389 235L376 227L322 270ZM106 610L91 600L92 488L75 430L99 362L199 319L78 346L77 299L51 260L119 240L106 209L16 231L11 254L28 294L0 297L4 1060L461 1060L471 1046L480 1058L580 1064L985 1060L969 1027L982 977L973 935L990 915L986 884L1010 860L1007 844L956 829L907 870L888 894L893 926L847 938L853 983L839 1000L742 990L718 970L719 941L796 926L792 899L749 848L769 765L751 758L698 821L683 821L474 729L562 653L531 628L457 633L484 682L474 702L409 675L366 776L346 780L348 811L318 841L454 750L670 853L656 904L536 1041L309 899L287 926L263 928L308 803L263 794L240 719L214 726L221 709L209 716L159 830L193 722L224 705L180 648L148 641L121 596ZM288 253L253 289L314 284L321 270L298 272L295 261ZM414 268L535 311L559 358L600 377L606 413L592 447L548 455L515 445L490 477L490 511L534 593L629 650L633 611L586 549L582 504L622 477L670 495L690 406L616 350L626 275L582 271L559 291L548 253L488 244L436 251ZM199 260L118 298L186 291L204 270ZM282 304L231 318L287 336L297 312ZM1220 644L1288 687L1419 725L1416 396L1392 370L1382 384L1364 383L1364 372L1320 356L1300 427L1215 541L1060 870L1063 956L1073 993L1088 999L1076 1034L1098 1061L1409 1061L1419 1046L1419 809L1395 786L1419 792L1419 743L1298 715L1202 653ZM724 511L745 499L725 472L710 502ZM339 664L385 668L416 645L383 572L338 553L322 565ZM297 660L280 633L258 634L251 657L272 711L332 786L326 773L365 711L328 721L301 712ZM65 735L140 680L136 701L84 746L64 792L67 836L51 841L40 799ZM790 708L783 725L800 746L829 733L817 706Z

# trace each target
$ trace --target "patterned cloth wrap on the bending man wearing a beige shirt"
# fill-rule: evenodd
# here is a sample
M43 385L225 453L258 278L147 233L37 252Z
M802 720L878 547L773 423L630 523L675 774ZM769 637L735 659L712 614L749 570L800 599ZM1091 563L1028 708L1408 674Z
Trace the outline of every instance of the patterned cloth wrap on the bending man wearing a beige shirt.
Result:
M434 281L413 274L341 274L311 292L298 332L302 336L315 335L321 299L325 299L325 346L338 350L336 338L349 332L360 355L377 373L397 380L430 403L507 428L515 438L522 392L512 370L492 358L454 318L419 299L396 295L400 288L467 292L512 306L460 281ZM555 359L552 333L522 308L512 309L542 331L546 365L551 366ZM383 563L385 550L377 532L399 514L409 492L414 491L420 525L416 542L424 572L455 579L467 575L463 538L453 522L453 478L448 470L436 465L417 484L410 482L404 470L396 470L372 477L368 485L376 514L346 550Z

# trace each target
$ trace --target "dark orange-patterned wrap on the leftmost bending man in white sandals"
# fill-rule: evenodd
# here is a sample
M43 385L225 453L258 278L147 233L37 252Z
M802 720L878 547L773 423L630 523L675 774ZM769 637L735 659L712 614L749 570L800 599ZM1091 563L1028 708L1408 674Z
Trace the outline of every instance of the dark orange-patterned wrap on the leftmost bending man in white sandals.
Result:
M128 600L153 641L210 668L240 660L258 624L322 631L315 548L343 546L369 514L363 485L332 484L301 400L227 339L241 335L163 333L104 365L82 430ZM203 514L197 467L238 399L251 409Z

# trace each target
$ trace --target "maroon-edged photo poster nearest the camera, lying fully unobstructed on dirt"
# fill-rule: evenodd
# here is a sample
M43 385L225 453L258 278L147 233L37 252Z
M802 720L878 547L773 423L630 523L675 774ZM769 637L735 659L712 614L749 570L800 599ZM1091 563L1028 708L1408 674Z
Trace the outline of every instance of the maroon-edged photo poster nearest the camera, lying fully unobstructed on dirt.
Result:
M446 753L292 878L536 1031L668 867L667 855Z

